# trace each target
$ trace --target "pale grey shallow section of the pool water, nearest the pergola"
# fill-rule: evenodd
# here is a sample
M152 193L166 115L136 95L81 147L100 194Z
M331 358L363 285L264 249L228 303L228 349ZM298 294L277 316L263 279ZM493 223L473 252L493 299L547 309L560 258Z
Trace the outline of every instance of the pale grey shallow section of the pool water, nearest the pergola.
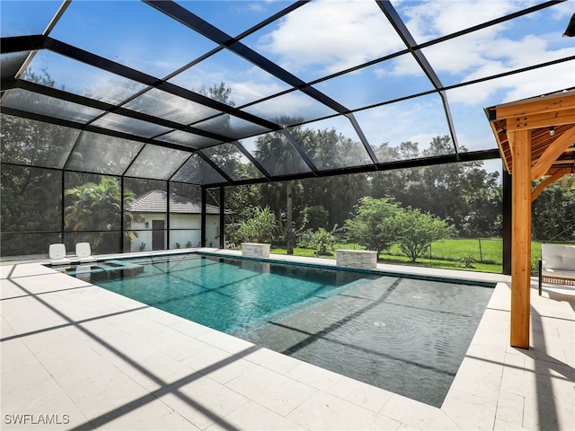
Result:
M241 338L440 408L492 292L380 277Z

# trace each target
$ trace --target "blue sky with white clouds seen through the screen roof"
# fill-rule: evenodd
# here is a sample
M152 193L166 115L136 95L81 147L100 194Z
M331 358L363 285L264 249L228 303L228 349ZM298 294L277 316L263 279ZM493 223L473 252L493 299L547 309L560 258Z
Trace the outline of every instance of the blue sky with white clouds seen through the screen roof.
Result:
M180 1L181 6L218 26L231 36L241 34L291 2L285 1ZM517 12L535 0L392 0L417 43L461 31L480 22ZM46 29L59 2L6 1L0 3L2 36L37 34ZM33 13L31 13L33 11ZM456 86L517 67L575 55L575 38L562 38L572 0L524 17L474 31L454 40L423 48L422 52L445 86ZM137 1L74 0L49 36L91 50L120 64L141 69L158 78L217 45L195 31L173 22L153 7ZM361 65L405 49L403 41L371 0L315 0L242 40L264 57L305 82ZM35 70L49 70L66 90L94 94L107 88L111 77L90 66L77 64L49 52L31 63ZM140 84L121 84L121 91L101 92L101 100L118 102ZM231 88L231 103L266 119L279 115L305 120L335 112L301 92L291 92L259 104L289 88L288 84L234 53L222 50L199 62L170 82L198 90L224 82ZM73 83L73 84L71 84ZM95 84L94 84L95 83ZM108 84L106 84L108 83ZM495 148L484 108L575 86L575 62L512 75L482 84L464 85L445 93L459 145L468 150ZM443 101L438 94L370 107L433 88L411 55L378 62L373 66L314 84L314 88L339 101L354 115L372 145L384 142L419 142L424 149L434 136L447 135ZM175 99L170 101L177 109ZM250 105L252 104L252 105ZM310 128L341 128L341 119L324 119ZM357 139L357 136L350 136ZM246 141L246 145L247 144Z

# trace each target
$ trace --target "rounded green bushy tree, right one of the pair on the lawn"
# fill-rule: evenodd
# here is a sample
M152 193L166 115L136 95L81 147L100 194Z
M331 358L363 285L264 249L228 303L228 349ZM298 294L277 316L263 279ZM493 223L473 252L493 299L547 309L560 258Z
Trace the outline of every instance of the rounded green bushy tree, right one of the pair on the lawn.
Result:
M456 235L456 229L445 220L411 207L394 215L395 241L403 253L415 262L431 242ZM389 225L389 224L386 224Z

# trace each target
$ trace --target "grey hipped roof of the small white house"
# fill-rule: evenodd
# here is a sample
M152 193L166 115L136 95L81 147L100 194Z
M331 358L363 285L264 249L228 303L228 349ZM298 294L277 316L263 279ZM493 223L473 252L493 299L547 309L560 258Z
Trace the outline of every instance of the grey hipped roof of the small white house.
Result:
M167 211L167 195L164 190L148 191L129 206L129 211L132 213L165 213ZM170 213L201 214L201 202L171 193ZM229 211L226 211L227 213ZM207 204L206 214L219 214L219 208Z

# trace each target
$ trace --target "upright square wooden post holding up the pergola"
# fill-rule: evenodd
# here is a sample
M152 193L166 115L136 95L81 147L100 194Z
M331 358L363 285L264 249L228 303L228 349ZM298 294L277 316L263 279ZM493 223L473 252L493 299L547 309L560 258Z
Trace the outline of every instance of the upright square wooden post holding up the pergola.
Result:
M508 131L509 133L509 131ZM531 130L511 132L511 346L529 348L531 294Z

